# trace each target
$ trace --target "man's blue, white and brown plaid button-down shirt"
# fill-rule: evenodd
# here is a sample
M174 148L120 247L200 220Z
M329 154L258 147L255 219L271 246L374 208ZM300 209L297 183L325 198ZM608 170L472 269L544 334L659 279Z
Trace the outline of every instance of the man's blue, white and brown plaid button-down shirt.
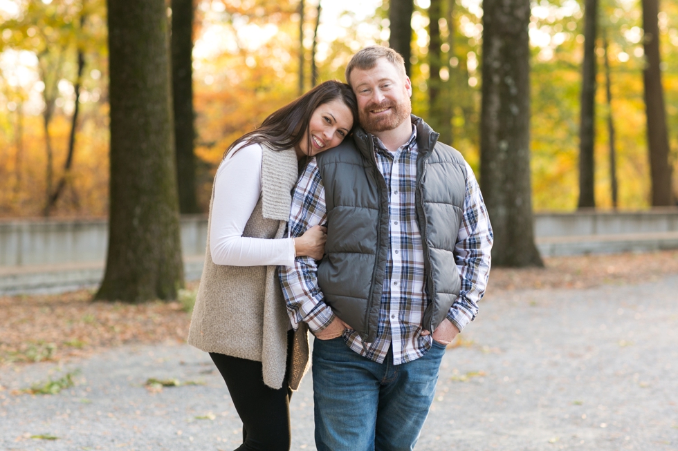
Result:
M389 190L389 248L383 282L376 340L363 343L358 332L347 329L344 340L358 354L382 363L392 347L394 365L419 358L431 347L432 336L421 335L423 314L429 299L425 292L424 257L419 224L416 222L416 128L410 140L395 152L374 137L376 162ZM455 258L461 276L459 297L447 318L464 329L477 312L490 270L492 230L473 170L466 167L464 217L459 228ZM301 236L306 229L327 222L324 186L320 171L311 160L295 188L288 230ZM288 313L297 327L306 322L319 332L334 315L324 303L318 287L317 266L309 257L298 257L295 265L280 268L282 291Z

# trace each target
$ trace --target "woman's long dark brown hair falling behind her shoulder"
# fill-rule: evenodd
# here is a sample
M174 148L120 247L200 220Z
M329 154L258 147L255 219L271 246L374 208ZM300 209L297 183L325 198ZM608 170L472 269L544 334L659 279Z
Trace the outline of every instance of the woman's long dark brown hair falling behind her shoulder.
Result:
M304 137L306 128L309 128L311 115L315 108L333 100L340 100L351 110L354 123L358 120L358 102L351 87L338 80L324 81L315 86L308 93L293 102L283 106L264 119L262 125L255 130L245 133L233 142L223 157L239 144L266 143L275 151L283 151L299 144ZM311 148L311 137L308 138L307 148Z

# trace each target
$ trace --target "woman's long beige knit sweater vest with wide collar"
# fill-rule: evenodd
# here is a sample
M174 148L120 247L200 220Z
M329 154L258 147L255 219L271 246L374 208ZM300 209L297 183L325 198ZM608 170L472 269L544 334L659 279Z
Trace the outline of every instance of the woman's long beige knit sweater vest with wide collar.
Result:
M297 181L293 149L272 151L262 145L262 196L243 236L282 238L289 219L291 191ZM287 361L289 318L277 267L215 265L210 252L212 202L205 265L196 297L188 343L205 352L260 361L264 383L282 387ZM288 385L296 390L309 362L307 328L295 332Z

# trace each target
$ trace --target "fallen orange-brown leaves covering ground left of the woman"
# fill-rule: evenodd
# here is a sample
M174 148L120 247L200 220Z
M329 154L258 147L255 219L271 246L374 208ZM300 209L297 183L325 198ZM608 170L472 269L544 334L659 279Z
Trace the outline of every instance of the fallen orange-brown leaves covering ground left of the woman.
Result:
M0 298L0 365L58 361L124 343L183 342L190 316L178 303L92 303L89 291Z

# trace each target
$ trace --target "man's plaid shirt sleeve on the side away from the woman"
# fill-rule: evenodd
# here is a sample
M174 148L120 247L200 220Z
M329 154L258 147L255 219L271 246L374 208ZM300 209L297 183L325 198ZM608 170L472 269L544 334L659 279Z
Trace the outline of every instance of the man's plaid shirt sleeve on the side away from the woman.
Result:
M459 329L459 332L478 314L478 302L485 294L490 276L490 251L493 240L490 218L480 193L480 186L473 169L467 163L464 216L455 245L461 290L447 315L447 319Z

